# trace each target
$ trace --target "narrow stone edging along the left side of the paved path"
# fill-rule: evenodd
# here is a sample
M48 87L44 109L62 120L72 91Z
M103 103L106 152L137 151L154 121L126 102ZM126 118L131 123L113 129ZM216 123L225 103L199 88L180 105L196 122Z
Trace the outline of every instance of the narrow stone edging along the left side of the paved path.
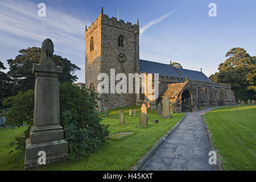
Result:
M144 163L147 162L148 159L150 159L150 157L155 154L155 151L158 149L158 147L164 142L164 140L166 140L166 138L172 133L173 130L176 129L177 126L179 126L179 124L181 123L181 121L183 121L183 119L187 116L187 114L185 114L181 119L180 121L178 121L176 123L176 125L174 127L172 127L168 132L167 134L165 134L162 138L160 138L158 140L158 142L156 142L154 144L154 146L151 148L150 151L147 152L146 155L144 155L141 160L139 160L138 164L134 167L131 167L131 171L138 171L139 169L141 169L141 167L143 166Z

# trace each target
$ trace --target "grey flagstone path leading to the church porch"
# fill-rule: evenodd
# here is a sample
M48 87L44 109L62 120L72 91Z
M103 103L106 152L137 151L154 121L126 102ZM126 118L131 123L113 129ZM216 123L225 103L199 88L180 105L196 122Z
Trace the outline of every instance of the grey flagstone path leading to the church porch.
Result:
M141 170L214 170L208 163L209 142L201 115L214 108L187 113Z

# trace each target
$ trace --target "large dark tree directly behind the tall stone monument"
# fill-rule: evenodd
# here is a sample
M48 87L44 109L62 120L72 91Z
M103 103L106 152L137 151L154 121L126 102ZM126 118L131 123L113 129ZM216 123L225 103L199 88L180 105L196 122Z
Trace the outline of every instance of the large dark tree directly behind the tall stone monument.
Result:
M33 63L39 64L41 48L29 47L20 50L19 53L14 60L7 60L10 66L10 71L7 74L16 83L16 93L18 93L18 90L26 92L29 89L34 89L35 76L32 75L32 65ZM60 74L59 82L74 82L77 80L77 76L74 75L75 71L80 70L77 65L58 55L53 55L52 59L56 65L63 67L63 73Z

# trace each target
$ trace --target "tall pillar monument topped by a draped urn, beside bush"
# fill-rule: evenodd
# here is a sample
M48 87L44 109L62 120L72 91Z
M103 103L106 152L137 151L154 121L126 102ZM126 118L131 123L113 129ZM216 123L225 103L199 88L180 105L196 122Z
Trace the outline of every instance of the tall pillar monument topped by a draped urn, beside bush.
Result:
M60 126L59 74L62 67L52 60L53 43L46 39L42 43L39 64L33 64L35 75L35 101L33 126L26 140L24 169L38 167L39 151L44 151L46 164L67 160L68 142L64 140ZM42 155L42 154L41 154Z

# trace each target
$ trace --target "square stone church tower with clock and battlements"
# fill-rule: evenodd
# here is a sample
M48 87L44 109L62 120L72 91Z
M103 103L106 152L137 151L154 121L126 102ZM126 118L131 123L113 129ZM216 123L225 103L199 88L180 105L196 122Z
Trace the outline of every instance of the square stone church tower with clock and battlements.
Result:
M124 73L127 78L128 73L139 70L139 23L138 20L137 24L131 24L109 18L101 9L95 22L85 28L85 87L97 90L100 73L106 73L110 81L110 69L115 69L115 75ZM128 86L127 83L127 89ZM113 85L109 84L108 94L100 94L101 108L135 105L136 94L110 93L110 87L113 89Z

